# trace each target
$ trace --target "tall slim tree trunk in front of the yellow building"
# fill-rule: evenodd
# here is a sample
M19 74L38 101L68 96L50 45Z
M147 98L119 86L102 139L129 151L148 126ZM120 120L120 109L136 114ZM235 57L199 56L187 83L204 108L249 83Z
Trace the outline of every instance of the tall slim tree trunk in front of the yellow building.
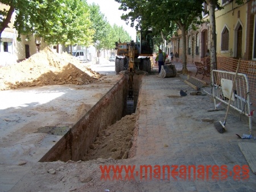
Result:
M216 2L214 0L207 0L209 8L209 20L210 20L210 70L217 69L217 36L216 36L216 21L215 21L215 8ZM212 79L212 78L211 78Z

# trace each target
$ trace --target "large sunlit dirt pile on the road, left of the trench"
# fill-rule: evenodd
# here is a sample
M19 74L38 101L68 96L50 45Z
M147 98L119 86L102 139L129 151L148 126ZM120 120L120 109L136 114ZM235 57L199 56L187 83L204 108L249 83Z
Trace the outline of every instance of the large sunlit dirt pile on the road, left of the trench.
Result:
M46 47L29 59L0 68L0 90L20 87L95 82L101 75L82 66L68 53L55 53Z

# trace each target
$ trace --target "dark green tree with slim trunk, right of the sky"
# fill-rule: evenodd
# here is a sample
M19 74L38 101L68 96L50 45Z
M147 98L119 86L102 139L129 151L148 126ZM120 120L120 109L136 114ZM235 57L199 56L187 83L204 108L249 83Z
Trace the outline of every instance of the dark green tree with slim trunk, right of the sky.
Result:
M122 19L130 20L131 26L138 22L137 28L152 28L154 33L163 31L174 32L175 24L180 28L183 44L183 73L187 73L186 59L186 32L191 24L198 23L203 11L203 0L115 0L121 3L119 9L130 10L128 14L123 14Z

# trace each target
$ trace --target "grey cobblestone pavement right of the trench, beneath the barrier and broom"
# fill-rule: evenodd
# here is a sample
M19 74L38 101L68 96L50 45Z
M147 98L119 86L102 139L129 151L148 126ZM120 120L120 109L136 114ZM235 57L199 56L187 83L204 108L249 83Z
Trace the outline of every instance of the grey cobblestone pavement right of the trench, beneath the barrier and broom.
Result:
M187 90L187 96L180 97L181 89ZM148 173L144 174L144 191L256 191L256 175L247 166L238 147L240 141L256 141L241 140L236 135L248 133L249 125L241 122L239 116L229 114L227 131L219 133L213 123L223 121L226 111L208 112L214 109L212 98L208 94L190 95L192 91L195 90L179 77L152 75L143 78L138 101L139 133L135 159L142 162L141 165L178 166L177 176L170 179L166 173L163 178L163 170L160 171L160 180L153 174L152 180L144 181ZM185 165L186 176L180 174L181 165ZM189 165L195 165L197 171L203 165L205 174L196 172L189 179ZM247 176L241 171L235 176L238 167L247 169ZM212 174L215 168L224 173ZM154 173L155 169L152 170Z

